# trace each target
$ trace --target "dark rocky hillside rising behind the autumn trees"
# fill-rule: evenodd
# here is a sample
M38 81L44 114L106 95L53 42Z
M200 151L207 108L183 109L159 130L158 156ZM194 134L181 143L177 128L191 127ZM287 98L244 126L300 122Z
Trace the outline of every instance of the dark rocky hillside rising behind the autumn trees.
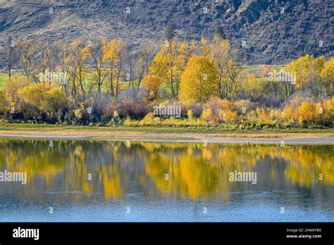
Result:
M132 47L223 27L247 64L287 63L304 54L333 56L333 0L0 0L0 43L8 37L72 40L123 37Z

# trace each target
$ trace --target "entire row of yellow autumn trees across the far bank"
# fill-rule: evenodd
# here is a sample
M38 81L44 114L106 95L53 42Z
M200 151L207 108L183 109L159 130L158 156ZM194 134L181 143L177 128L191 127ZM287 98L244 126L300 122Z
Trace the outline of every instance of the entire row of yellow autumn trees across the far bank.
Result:
M0 113L11 120L87 124L111 120L114 113L144 118L158 103L201 107L217 97L282 108L296 93L314 103L333 96L334 58L298 58L281 69L294 79L276 80L268 78L275 67L237 63L238 51L222 32L185 42L169 28L166 38L137 49L123 39L53 45L8 39L1 52L8 82L0 92ZM63 78L46 81L41 73Z

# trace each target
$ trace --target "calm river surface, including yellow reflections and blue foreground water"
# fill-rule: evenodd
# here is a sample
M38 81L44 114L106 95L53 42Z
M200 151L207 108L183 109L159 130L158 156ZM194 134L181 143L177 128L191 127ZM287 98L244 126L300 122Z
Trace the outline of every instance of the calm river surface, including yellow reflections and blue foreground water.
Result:
M0 140L0 222L334 221L333 145L53 144Z

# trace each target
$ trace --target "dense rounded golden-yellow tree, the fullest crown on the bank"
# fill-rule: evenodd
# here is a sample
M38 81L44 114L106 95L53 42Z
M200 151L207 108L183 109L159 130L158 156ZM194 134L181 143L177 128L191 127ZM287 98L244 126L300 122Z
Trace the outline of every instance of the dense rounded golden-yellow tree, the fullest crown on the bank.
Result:
M218 71L214 61L205 56L192 56L181 77L180 99L206 101L217 95Z

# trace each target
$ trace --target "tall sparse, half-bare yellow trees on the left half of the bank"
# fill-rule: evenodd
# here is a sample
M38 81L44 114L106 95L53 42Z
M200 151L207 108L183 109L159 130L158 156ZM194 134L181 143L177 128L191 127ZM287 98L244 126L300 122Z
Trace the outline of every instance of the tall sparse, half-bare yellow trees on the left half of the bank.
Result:
M155 44L148 43L132 54L123 39L76 39L70 44L56 42L53 45L9 39L2 54L9 80L13 70L19 70L35 83L44 82L40 73L66 74L67 80L60 85L67 96L78 102L94 92L97 96L104 92L117 98L120 83L125 80L129 84L137 80L140 85L148 73L155 48Z

